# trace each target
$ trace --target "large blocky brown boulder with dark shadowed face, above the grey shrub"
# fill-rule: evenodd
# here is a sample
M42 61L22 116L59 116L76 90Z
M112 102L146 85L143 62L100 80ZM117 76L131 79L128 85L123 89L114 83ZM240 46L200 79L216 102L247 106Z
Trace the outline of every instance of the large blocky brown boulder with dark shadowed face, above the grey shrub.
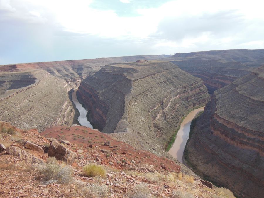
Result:
M76 158L76 153L67 149L65 146L61 145L56 139L53 139L50 143L48 150L48 155L50 157L55 157L58 160L62 160L69 165L72 165Z

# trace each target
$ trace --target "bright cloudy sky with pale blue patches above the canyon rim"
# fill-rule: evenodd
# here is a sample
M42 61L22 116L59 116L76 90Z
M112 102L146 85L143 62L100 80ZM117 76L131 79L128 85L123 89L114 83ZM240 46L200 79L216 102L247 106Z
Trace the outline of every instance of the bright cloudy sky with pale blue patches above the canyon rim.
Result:
M264 48L260 0L0 0L0 65Z

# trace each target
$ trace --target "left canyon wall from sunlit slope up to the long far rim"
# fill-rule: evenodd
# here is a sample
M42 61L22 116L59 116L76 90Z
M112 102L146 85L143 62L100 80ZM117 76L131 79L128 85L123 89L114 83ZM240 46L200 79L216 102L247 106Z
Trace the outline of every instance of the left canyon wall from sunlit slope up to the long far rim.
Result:
M70 92L101 65L157 59L147 55L0 65L0 120L29 129L76 122Z

